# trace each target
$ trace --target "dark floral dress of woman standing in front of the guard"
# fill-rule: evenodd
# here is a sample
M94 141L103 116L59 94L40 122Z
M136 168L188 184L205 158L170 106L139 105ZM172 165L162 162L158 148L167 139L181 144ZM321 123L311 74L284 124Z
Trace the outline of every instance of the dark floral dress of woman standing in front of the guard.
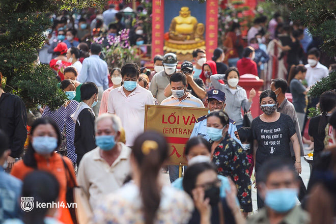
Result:
M209 141L212 145L213 141ZM212 161L217 166L217 173L231 177L238 190L238 201L242 212L252 211L251 179L249 163L245 151L227 134L215 148Z

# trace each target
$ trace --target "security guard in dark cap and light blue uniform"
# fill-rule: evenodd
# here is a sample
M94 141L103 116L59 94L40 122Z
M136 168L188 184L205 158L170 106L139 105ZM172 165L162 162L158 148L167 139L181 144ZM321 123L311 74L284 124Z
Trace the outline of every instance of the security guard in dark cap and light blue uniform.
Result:
M225 99L226 99L225 93L221 92L220 90L210 90L208 92L208 108L209 108L208 114L210 114L211 111L214 111L216 109L224 110L226 106ZM196 123L195 126L193 127L190 138L195 136L202 136L207 141L209 141L210 137L207 135L207 116L208 115L204 115L196 119ZM233 139L235 139L241 145L236 127L236 122L233 121L232 119L230 119L228 133Z

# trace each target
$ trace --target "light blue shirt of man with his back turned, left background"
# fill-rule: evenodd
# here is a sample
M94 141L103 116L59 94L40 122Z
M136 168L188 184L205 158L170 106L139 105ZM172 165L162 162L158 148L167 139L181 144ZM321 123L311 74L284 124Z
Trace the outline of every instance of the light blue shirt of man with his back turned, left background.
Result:
M108 68L104 60L101 60L97 54L84 59L81 73L77 81L84 83L86 81L94 82L97 87L108 88Z

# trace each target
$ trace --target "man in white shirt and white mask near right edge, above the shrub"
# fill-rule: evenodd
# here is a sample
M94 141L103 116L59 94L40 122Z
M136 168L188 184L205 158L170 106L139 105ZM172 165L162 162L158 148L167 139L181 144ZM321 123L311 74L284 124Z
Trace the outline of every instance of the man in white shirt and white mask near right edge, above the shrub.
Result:
M312 48L308 51L308 64L304 67L307 68L305 79L307 80L308 87L311 87L320 81L321 78L329 75L328 68L320 64L320 51L317 48Z

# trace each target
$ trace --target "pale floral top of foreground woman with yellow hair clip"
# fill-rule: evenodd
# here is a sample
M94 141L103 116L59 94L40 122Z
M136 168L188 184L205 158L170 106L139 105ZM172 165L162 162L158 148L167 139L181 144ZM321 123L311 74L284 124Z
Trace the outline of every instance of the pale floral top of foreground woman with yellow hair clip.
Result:
M182 190L163 186L154 224L186 224L194 210L192 199ZM106 195L94 210L93 223L144 224L141 193L130 182Z

